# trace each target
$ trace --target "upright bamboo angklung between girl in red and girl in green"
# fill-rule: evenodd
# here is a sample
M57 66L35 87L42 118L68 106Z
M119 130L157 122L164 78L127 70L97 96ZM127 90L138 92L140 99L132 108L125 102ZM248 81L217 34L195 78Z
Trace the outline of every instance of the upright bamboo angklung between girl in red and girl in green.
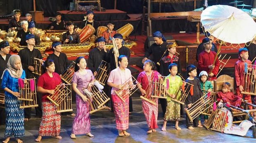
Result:
M164 76L162 76L164 77ZM164 78L154 79L153 81L153 92L151 97L166 99L166 86L164 85Z

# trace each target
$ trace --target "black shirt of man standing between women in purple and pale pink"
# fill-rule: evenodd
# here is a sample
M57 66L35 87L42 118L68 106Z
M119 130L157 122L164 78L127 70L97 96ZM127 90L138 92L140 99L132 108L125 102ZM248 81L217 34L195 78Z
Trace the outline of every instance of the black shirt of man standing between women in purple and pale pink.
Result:
M107 50L109 52L109 50ZM100 66L101 60L105 60L106 54L109 54L107 52L104 52L104 49L100 51L98 48L94 48L89 52L89 58L88 58L88 68L94 73L94 71L97 71L98 67Z

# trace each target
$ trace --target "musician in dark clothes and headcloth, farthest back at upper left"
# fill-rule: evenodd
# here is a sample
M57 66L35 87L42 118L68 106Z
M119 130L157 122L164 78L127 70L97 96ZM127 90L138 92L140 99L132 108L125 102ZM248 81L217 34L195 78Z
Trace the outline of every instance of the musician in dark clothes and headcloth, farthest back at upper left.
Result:
M13 11L14 18L9 21L8 29L9 30L21 30L21 11L16 9Z

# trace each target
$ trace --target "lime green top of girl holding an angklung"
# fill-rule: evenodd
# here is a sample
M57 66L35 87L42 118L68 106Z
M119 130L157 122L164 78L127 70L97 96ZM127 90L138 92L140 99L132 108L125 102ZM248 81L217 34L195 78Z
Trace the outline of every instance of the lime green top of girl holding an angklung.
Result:
M175 94L178 91L178 95L176 97L176 99L178 99L181 95L181 92L179 90L179 88L181 88L182 86L182 80L180 78L180 76L175 76L175 80L171 80L171 75L169 74L168 76L166 76L166 78L164 79L164 85L166 86L166 81L167 79L169 79L169 88L168 88L168 92L170 94ZM171 101L171 97L169 97L167 95L167 101Z

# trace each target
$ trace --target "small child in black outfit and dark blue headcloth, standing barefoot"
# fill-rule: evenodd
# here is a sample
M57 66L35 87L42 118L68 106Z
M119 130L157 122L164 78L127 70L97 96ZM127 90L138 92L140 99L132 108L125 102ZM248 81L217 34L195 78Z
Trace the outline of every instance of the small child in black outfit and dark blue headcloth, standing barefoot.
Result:
M201 90L201 87L200 87L200 81L198 78L196 78L197 76L197 67L194 66L194 65L188 65L187 66L187 72L188 72L188 75L189 77L186 79L186 82L187 83L190 83L193 86L193 90L192 93L193 95L191 94L191 92L187 93L187 99L186 99L186 104L187 104L187 107L190 108L191 105L197 101L198 99L200 99L202 96L203 96L203 92ZM188 84L186 84L186 86L190 86ZM193 120L193 122L190 122L189 118L186 116L186 126L187 126L187 129L191 129L193 130L194 128L192 127L194 125L194 127L203 127L201 125L198 124L198 121L199 121L199 116L197 118L195 118Z

